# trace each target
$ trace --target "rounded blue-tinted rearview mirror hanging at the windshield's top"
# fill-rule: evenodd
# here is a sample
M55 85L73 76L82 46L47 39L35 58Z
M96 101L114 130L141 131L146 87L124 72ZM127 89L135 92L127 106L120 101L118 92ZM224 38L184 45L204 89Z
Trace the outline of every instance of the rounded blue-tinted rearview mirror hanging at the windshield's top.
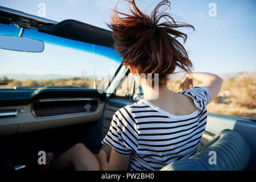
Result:
M19 36L0 35L0 48L12 51L43 52L44 42Z

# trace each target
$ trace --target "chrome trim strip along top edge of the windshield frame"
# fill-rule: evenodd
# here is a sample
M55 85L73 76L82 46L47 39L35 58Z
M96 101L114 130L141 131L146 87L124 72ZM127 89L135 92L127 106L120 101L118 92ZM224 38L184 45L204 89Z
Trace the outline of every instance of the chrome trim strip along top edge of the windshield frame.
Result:
M41 18L39 16L23 13L22 11L10 9L8 7L0 6L0 11L4 11L6 13L15 14L15 15L19 15L19 16L23 16L24 18L34 19L34 20L42 22L42 23L51 23L51 24L57 24L58 23L58 22L55 22L53 20L49 20L49 19L46 19L46 18Z

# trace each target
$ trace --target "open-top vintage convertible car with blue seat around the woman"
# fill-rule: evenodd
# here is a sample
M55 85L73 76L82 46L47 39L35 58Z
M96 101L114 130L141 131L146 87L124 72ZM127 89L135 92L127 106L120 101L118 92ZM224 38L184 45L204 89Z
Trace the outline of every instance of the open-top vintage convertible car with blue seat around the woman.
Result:
M76 20L55 22L0 6L0 68L8 65L9 70L22 71L24 64L26 70L38 65L36 71L46 69L54 74L56 65L60 69L62 64L70 64L70 69L92 65L88 71L94 74L88 78L92 85L80 86L79 82L74 86L45 81L36 85L16 82L11 88L8 82L0 81L1 168L43 171L47 164L39 163L40 151L46 158L57 158L79 142L92 152L100 150L115 111L143 98L142 92L135 92L134 82L131 89L119 93L129 69L121 64L113 44L111 31ZM47 53L51 49L58 51ZM67 49L74 53L67 53ZM88 54L92 59L86 60ZM115 73L101 89L96 88L96 72L110 69L110 63L115 65ZM209 113L197 154L162 170L255 169L255 119Z

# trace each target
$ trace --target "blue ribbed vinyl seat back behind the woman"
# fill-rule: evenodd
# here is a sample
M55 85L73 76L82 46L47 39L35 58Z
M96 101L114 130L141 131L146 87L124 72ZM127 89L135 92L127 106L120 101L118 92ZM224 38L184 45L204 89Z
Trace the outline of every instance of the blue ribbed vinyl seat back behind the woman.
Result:
M177 160L161 171L242 171L249 160L250 147L245 139L235 131L223 130L191 158Z

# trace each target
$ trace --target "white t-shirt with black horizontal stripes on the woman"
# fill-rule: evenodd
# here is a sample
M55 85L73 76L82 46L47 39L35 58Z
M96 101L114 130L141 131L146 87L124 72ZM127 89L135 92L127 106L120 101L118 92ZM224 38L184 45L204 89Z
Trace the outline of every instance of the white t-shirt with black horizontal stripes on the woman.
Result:
M179 92L193 99L197 110L188 115L173 115L141 100L113 115L108 144L123 156L131 156L129 170L159 170L179 159L194 155L207 123L210 102L207 87Z

